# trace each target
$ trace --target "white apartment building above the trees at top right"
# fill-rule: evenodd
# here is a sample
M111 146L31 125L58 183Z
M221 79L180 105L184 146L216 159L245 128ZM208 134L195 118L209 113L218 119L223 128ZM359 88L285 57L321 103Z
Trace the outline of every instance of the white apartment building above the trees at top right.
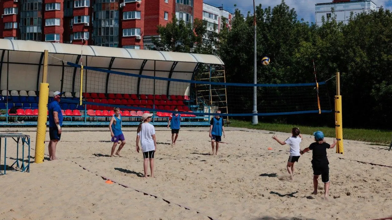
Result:
M334 13L332 13L332 8ZM327 18L333 18L336 16L337 22L347 23L350 18L350 14L359 14L362 12L375 11L377 5L371 0L333 0L330 3L318 3L316 4L316 24L322 25L322 17L325 20Z

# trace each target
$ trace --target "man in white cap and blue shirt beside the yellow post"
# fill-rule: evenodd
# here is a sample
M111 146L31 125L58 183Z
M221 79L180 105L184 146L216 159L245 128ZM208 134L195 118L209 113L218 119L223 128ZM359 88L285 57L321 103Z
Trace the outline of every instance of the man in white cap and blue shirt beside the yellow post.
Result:
M61 126L63 125L63 114L60 108L61 92L53 93L53 101L48 105L49 110L49 160L57 160L56 145L60 141Z

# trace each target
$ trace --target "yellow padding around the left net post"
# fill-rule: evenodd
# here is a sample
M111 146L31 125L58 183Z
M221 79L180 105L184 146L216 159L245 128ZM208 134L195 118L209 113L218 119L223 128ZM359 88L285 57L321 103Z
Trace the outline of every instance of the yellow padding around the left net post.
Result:
M35 141L35 159L34 159L34 162L36 162L37 164L44 162L48 96L49 96L49 83L40 83L40 95L38 100L37 136Z

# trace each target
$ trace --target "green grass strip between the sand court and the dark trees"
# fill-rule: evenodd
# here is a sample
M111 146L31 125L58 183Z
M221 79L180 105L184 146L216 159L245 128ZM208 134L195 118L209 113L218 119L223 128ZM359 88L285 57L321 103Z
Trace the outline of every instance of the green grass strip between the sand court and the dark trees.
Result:
M251 124L249 121L238 121L230 120L230 127L236 128L250 128L258 130L267 130L274 132L287 132L290 133L294 127L299 127L301 133L313 135L313 132L321 130L325 137L335 137L335 128L330 127L312 127L312 126L301 126L298 124L278 124L278 123L258 123ZM392 131L385 130L371 130L371 129L356 129L356 128L344 128L343 126L343 139L354 140L354 141L366 141L381 144L389 144L392 139Z

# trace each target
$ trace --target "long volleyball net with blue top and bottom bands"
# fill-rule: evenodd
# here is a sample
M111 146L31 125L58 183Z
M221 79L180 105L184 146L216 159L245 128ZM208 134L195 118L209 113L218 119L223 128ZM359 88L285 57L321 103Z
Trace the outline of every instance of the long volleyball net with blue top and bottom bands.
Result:
M86 109L172 113L174 108L192 115L222 116L322 114L332 112L327 83L244 84L225 81L224 70L168 72L167 70L99 69L68 62L62 91L79 97ZM82 83L80 79L82 78ZM197 79L197 80L195 80ZM80 89L82 85L82 89ZM257 89L257 113L253 91ZM76 98L65 99L77 103Z

